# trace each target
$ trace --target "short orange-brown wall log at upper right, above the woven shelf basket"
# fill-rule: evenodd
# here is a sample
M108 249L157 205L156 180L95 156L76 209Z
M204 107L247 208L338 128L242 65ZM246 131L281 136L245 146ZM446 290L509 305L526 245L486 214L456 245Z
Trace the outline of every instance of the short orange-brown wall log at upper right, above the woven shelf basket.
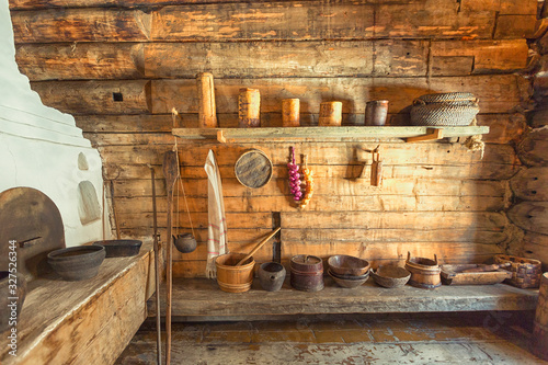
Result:
M434 75L455 75L450 73L449 68L437 64L439 57L468 57L468 60L471 57L473 65L469 73L507 72L527 66L528 46L525 39L435 41L431 47Z

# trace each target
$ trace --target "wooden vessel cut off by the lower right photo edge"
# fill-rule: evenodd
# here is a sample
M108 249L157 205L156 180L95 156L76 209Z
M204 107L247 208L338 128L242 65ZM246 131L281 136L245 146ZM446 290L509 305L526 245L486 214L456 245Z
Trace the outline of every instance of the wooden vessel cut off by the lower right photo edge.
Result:
M532 352L548 361L548 273L544 273L538 292L537 311L533 327Z

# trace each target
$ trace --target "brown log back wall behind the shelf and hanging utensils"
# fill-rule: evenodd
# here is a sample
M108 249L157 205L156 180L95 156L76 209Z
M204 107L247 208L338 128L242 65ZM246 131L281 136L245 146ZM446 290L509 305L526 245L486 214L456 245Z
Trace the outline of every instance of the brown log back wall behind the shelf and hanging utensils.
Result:
M388 99L389 123L404 125L421 94L468 91L479 98L478 123L491 127L483 159L460 142L180 140L198 248L175 255L178 275L205 273L203 166L209 149L222 176L229 249L250 251L282 225L281 241L261 249L258 262L347 253L376 266L402 262L407 251L436 253L443 262L482 262L515 244L516 226L506 209L513 201L510 180L522 170L514 146L527 128L522 104L529 98L528 82L516 71L527 66L525 38L535 31L535 0L10 0L10 5L22 72L45 104L76 115L99 148L104 178L114 184L116 224L128 238L152 233L150 164L165 240L162 155L173 147L172 127L197 125L198 72L216 78L221 127L237 126L241 87L261 91L261 123L272 127L281 126L287 98L300 99L302 125L317 124L323 101L342 101L343 124L363 125L365 103ZM173 107L180 113L175 121ZM364 152L377 145L381 187L370 185L372 159ZM305 210L290 204L285 168L290 146L308 155L316 173L315 196ZM249 148L262 149L274 163L273 179L262 189L243 187L233 173ZM178 210L179 231L189 231L181 190Z

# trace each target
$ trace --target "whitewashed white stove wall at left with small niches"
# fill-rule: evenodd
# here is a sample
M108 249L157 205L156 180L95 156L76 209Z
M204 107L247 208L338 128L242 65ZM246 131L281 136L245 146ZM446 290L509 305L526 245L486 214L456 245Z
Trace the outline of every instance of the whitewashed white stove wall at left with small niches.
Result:
M78 168L80 152L88 170ZM43 105L19 71L8 0L0 0L0 192L28 186L46 194L61 214L67 247L77 246L102 239L102 220L82 225L78 212L82 181L93 184L102 205L101 171L99 152L75 118Z

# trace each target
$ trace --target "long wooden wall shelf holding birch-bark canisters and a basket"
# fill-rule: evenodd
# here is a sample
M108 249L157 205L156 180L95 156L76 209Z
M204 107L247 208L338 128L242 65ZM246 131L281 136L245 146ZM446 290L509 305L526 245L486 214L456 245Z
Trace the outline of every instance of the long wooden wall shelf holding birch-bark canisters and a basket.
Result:
M429 130L430 129L430 130ZM468 127L279 127L279 128L174 128L183 139L217 139L221 142L283 141L353 141L379 138L410 138L443 129L443 137L467 137L489 133L487 126Z

